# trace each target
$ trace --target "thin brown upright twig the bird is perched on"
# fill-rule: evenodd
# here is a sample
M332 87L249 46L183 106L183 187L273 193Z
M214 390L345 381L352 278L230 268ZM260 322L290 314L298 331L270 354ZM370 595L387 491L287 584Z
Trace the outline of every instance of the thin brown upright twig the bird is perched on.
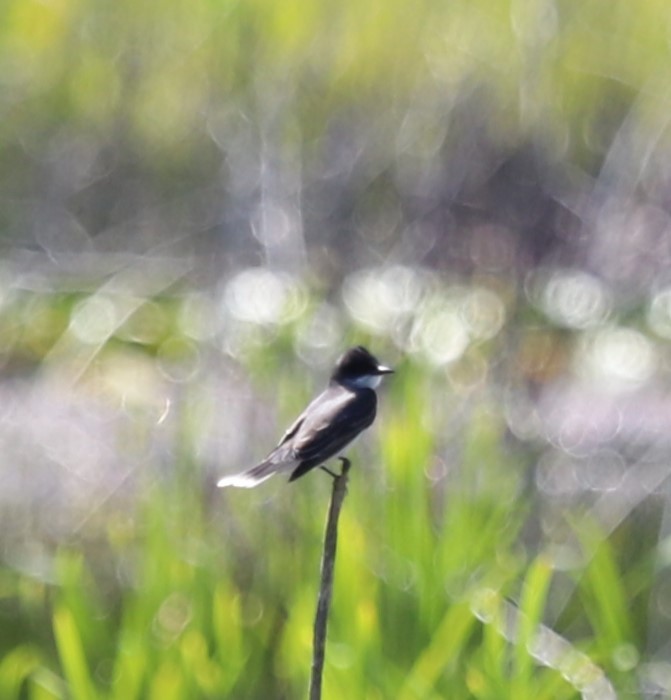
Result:
M345 494L347 493L347 472L350 461L341 457L342 471L334 476L333 491L331 492L331 504L326 520L326 532L324 533L324 551L322 553L321 584L319 586L319 600L315 614L314 636L312 642L312 673L310 675L310 700L321 700L322 673L324 671L324 650L326 647L326 627L328 625L329 608L331 606L331 593L333 592L333 568L335 566L335 553L338 545L338 517Z

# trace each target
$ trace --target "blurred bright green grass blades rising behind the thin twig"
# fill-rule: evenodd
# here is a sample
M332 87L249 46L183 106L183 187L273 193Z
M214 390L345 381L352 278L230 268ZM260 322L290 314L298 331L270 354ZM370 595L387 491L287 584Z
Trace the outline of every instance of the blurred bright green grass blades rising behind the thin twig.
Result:
M281 338L267 347L257 376L274 368L290 416L302 398L289 398L286 353ZM403 360L353 451L325 698L577 698L594 669L631 692L645 630L629 601L649 592L647 562L620 561L575 516L584 564L554 628L569 641L554 657L535 647L566 574L542 539L525 544L526 467L486 402L450 438L458 457L434 473L445 426L431 397L449 391L435 370ZM329 480L211 490L184 419L184 463L141 486L132 515L55 544L46 577L0 569L3 700L304 696Z

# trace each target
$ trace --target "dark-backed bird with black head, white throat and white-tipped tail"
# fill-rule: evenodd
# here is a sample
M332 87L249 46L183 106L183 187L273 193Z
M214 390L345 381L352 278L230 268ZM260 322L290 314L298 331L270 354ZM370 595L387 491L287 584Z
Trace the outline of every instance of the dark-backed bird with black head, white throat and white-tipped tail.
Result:
M382 378L394 372L358 345L335 364L326 389L317 396L259 464L217 482L219 488L253 488L275 474L290 473L295 481L339 455L375 420Z

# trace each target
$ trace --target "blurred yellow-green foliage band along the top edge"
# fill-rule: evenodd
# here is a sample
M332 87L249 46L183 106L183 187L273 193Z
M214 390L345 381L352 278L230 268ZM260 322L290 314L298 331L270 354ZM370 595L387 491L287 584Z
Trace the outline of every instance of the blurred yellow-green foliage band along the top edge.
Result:
M515 107L499 127L569 124L573 145L587 150L598 147L599 110L617 109L627 91L640 91L648 119L666 113L663 93L643 92L666 79L661 0L615 2L608 13L596 0L412 8L371 0L328 9L305 0L10 1L3 14L2 72L13 88L6 134L36 136L37 119L44 128L72 120L96 130L121 118L135 147L179 153L213 102L246 94L272 104L277 95L263 93L282 89L283 79L286 97L299 100L292 112L301 130L323 128L318 117L338 103L413 99L425 86L454 99L465 83L485 83ZM498 119L500 108L493 111Z

